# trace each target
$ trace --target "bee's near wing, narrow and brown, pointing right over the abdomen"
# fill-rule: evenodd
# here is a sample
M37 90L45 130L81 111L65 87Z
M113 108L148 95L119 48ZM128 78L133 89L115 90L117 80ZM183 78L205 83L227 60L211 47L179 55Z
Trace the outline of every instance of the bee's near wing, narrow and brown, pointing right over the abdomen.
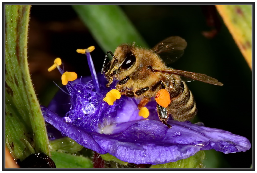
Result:
M182 70L153 70L154 72L161 72L161 73L167 73L167 74L176 74L179 76L188 77L190 79L202 81L205 83L210 83L214 85L223 86L223 83L219 82L217 79L214 79L213 77L207 76L205 74L200 73L193 73L193 72L186 72Z

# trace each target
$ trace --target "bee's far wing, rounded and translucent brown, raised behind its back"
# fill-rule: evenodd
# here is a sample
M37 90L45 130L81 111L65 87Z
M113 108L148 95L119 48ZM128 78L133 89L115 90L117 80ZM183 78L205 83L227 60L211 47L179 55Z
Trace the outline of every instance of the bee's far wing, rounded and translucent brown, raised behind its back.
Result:
M162 40L155 45L152 50L157 53L165 63L170 64L178 60L184 54L186 47L187 42L185 39L174 36Z

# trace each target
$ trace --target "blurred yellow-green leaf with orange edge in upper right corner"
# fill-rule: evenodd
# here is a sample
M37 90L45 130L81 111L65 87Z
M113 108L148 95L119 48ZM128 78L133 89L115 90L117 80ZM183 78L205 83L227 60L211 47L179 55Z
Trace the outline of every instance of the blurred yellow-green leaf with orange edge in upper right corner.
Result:
M252 68L252 6L216 5L237 46Z

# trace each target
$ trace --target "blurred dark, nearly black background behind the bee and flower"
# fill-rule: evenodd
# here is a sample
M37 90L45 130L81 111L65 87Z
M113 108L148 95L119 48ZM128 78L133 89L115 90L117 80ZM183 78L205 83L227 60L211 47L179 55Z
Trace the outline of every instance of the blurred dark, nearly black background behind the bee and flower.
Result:
M153 47L170 36L186 39L182 58L172 67L207 74L224 86L199 81L188 82L194 94L198 114L193 122L223 129L252 139L252 73L237 48L215 6L121 6L125 14ZM112 41L112 40L110 40ZM94 45L91 53L96 71L100 72L105 56L89 30L71 6L35 5L29 22L28 60L32 82L39 101L47 106L61 86L57 70L47 68L56 57L63 60L66 71L78 76L90 75L86 57L76 49ZM117 45L118 46L118 45ZM114 51L114 50L111 50ZM206 151L207 167L250 167L252 150L223 154Z

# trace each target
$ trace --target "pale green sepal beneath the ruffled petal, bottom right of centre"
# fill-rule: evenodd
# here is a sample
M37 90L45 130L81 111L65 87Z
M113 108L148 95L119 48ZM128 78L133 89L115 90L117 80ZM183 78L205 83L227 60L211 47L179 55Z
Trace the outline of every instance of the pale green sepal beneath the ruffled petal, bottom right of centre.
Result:
M204 151L199 151L189 158L160 165L152 165L151 168L202 168L205 159Z

